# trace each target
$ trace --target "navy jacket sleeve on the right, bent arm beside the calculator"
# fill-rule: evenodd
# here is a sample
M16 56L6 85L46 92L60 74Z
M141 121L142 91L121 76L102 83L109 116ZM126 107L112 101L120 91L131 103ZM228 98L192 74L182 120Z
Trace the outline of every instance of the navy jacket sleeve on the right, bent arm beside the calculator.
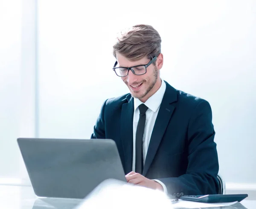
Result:
M188 129L188 167L180 177L159 179L169 195L218 194L218 154L214 142L212 110L209 103L201 100L193 111Z

